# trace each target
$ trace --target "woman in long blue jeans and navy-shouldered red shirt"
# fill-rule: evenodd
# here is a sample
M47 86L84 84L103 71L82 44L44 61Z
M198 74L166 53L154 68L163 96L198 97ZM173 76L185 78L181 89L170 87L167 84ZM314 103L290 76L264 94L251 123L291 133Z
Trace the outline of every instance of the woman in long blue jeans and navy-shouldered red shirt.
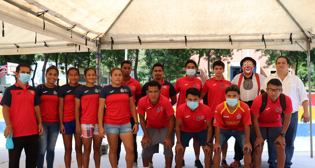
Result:
M57 81L59 70L54 65L47 68L45 84L40 84L36 87L39 93L42 104L39 104L42 124L44 127L43 134L39 136L39 148L37 167L43 168L44 157L46 155L47 168L53 168L55 145L59 135L59 117L58 117L58 90L59 86L54 83Z

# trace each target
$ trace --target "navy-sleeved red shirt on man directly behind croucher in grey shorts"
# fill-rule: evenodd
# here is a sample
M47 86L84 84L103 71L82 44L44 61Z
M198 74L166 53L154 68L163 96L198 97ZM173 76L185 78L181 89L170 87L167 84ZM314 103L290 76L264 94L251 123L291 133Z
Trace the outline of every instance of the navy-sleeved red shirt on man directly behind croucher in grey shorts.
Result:
M141 95L146 96L146 83L142 86ZM161 95L165 96L168 99L169 97L176 96L176 91L173 84L163 79L161 83Z

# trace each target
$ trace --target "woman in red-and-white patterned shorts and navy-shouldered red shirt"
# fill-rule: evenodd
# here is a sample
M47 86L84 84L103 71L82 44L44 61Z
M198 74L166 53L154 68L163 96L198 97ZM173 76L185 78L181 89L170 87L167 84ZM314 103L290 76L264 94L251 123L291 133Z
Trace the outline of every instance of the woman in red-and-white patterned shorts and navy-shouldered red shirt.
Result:
M74 94L76 131L82 137L83 142L83 168L89 167L92 140L95 168L100 168L100 145L103 138L98 134L99 126L102 128L103 125L98 122L97 111L102 86L95 85L96 70L92 67L85 68L83 77L86 79L86 84L78 87ZM80 107L82 107L81 119L79 119Z

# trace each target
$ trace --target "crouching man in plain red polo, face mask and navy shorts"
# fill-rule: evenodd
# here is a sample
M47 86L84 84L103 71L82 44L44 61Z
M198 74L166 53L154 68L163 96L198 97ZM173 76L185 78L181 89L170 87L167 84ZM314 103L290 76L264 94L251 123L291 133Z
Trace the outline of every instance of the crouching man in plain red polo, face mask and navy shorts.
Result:
M212 136L212 112L207 105L200 103L200 92L196 88L186 90L186 103L176 110L175 163L182 167L182 153L189 146L192 137L196 137L204 152L204 167L210 168L210 145ZM209 129L207 129L207 127Z

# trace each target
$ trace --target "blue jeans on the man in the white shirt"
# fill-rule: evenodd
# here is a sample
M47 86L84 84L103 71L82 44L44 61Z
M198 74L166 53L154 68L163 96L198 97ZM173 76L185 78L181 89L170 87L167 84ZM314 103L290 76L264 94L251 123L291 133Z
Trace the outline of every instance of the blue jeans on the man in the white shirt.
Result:
M294 153L294 140L295 140L295 136L296 136L296 130L297 130L297 125L298 125L298 112L296 113L292 113L291 116L291 122L290 125L288 127L287 132L285 133L285 163L284 163L284 167L291 167L291 165L293 164L291 162L291 159L293 157L293 153ZM283 120L284 117L281 117L281 123L283 124ZM269 155L269 159L268 159L268 163L269 166L277 168L277 152L276 152L276 148L273 146L273 144L271 143L270 138L268 139L268 155Z

